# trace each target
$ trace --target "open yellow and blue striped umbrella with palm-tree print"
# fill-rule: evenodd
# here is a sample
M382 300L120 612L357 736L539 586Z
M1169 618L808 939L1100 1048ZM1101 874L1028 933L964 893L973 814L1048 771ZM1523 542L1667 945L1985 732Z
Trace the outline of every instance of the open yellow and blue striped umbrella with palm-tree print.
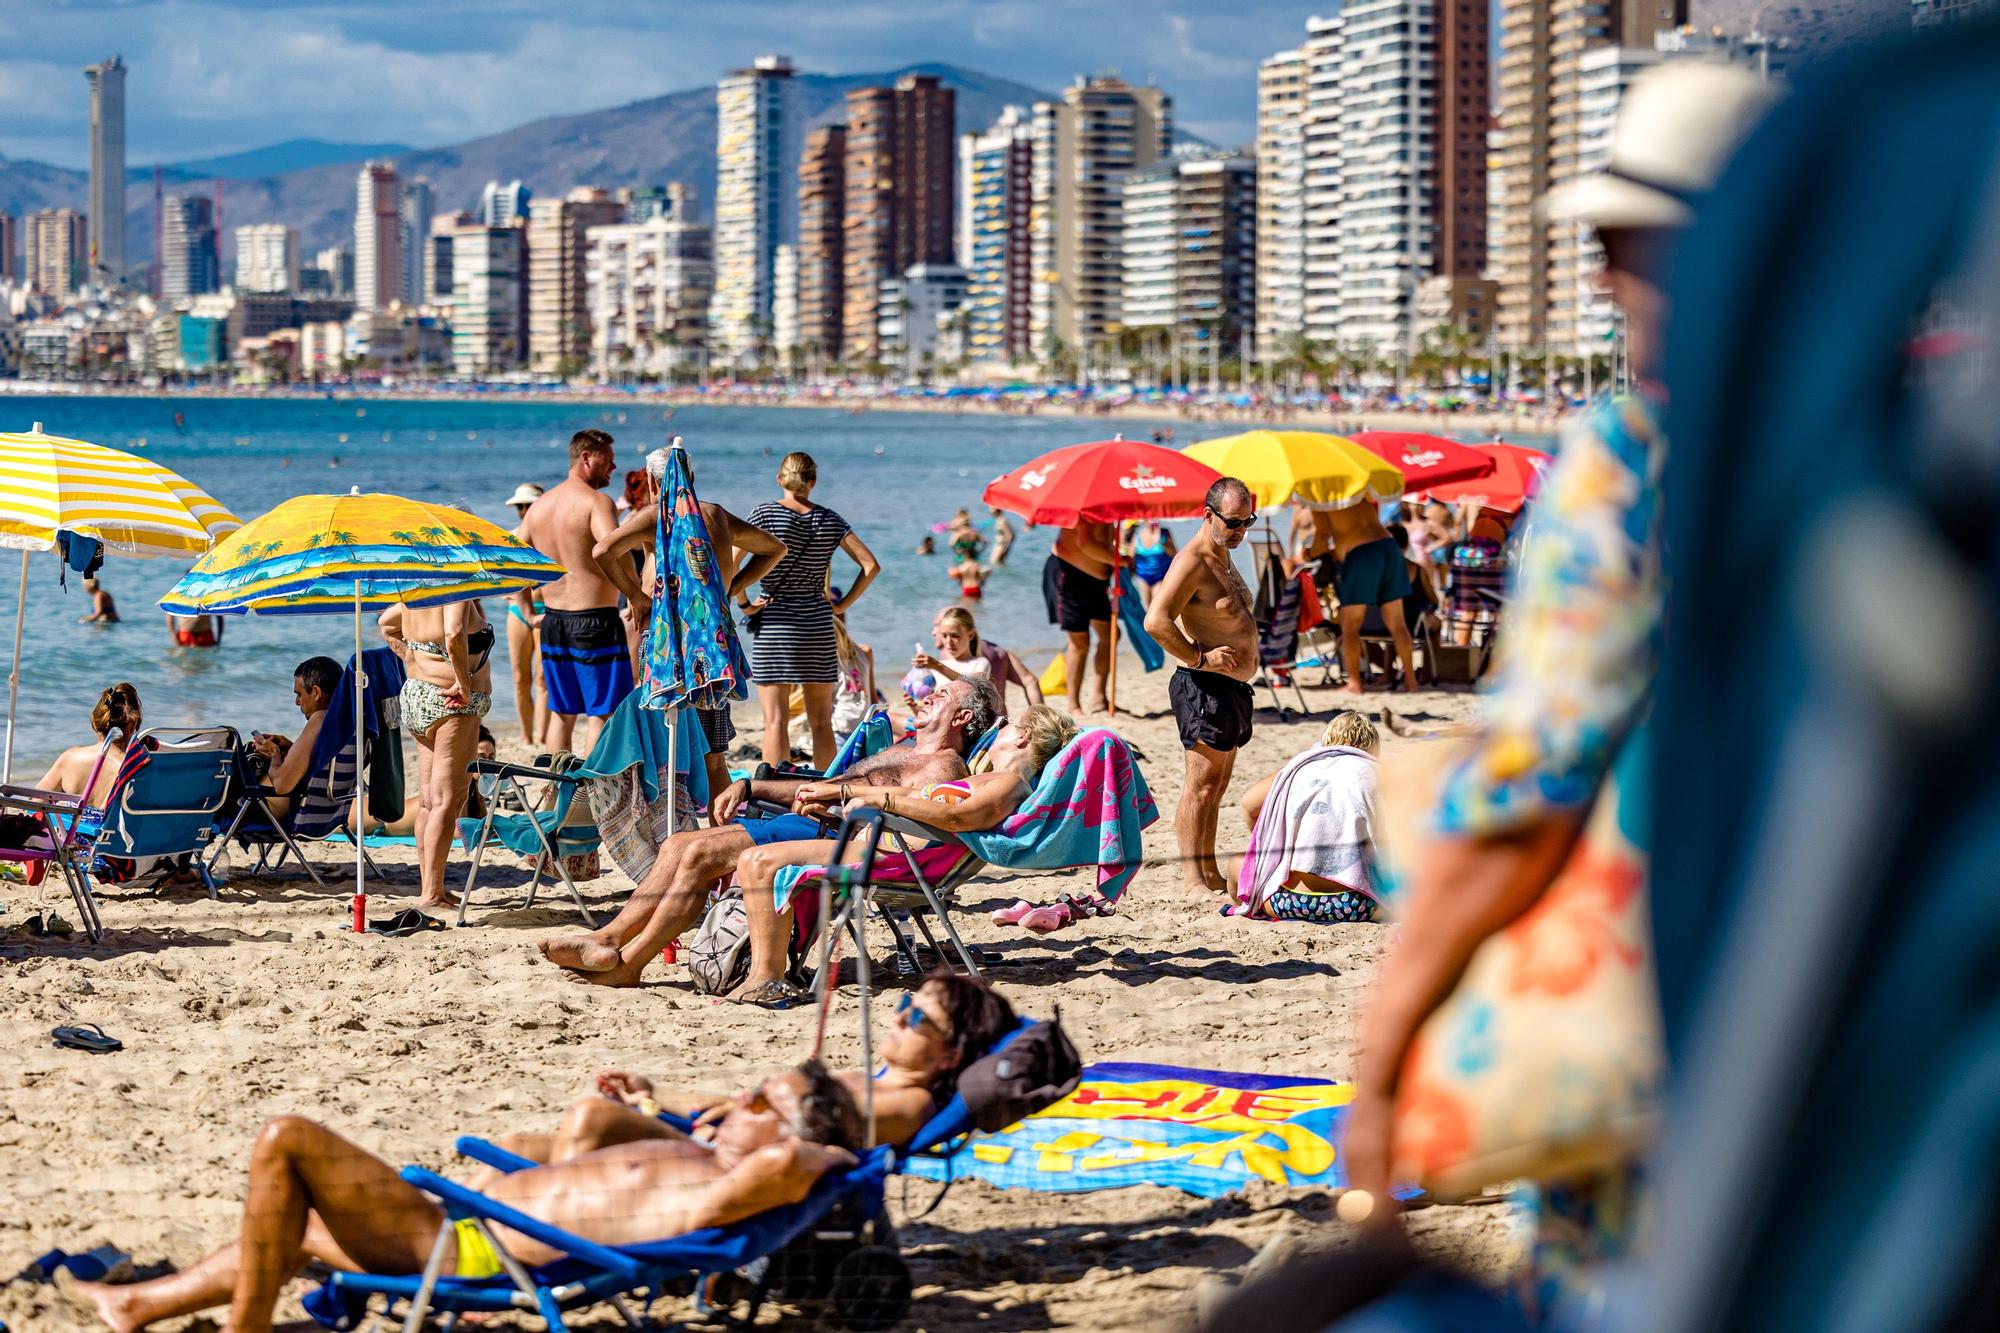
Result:
M302 494L252 518L196 560L160 608L176 616L354 614L356 799L368 803L362 612L518 592L564 568L506 528L398 494ZM368 927L354 837L354 929Z

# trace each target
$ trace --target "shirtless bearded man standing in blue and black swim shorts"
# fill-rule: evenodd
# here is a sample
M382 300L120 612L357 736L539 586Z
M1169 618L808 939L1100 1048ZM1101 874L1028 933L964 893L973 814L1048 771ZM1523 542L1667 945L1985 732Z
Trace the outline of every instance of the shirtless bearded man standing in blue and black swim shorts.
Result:
M632 608L646 604L630 560L598 560L592 550L618 526L618 510L604 494L618 472L612 436L578 430L570 438L570 474L528 506L520 536L562 564L556 582L536 588L546 610L534 612L532 590L514 594L522 618L542 636L542 687L548 693L550 751L588 755L604 719L632 693L632 658L626 650L618 594ZM592 719L578 729L576 719Z

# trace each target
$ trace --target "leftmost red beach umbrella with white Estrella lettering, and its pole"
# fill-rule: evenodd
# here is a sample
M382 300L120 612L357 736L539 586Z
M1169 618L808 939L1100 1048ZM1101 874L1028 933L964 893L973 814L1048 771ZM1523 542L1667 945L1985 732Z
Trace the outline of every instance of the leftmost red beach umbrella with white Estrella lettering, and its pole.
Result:
M1078 522L1200 518L1208 488L1222 472L1164 444L1122 434L1068 444L988 482L982 498L1028 522L1074 528ZM1112 542L1112 675L1108 699L1118 711L1118 542ZM1070 683L1070 691L1080 691ZM1078 695L1070 695L1076 703Z

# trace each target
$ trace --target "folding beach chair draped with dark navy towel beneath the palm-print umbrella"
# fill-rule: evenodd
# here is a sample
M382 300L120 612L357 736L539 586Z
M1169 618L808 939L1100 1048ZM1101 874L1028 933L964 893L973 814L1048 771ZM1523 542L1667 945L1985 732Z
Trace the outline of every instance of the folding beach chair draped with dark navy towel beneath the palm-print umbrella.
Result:
M326 709L326 717L320 721L320 735L312 743L312 765L306 779L292 793L280 793L264 783L264 777L248 767L248 755L238 751L238 805L236 815L230 819L228 829L216 841L216 851L208 857L208 871L230 847L230 843L240 843L244 847L256 849L254 875L268 875L284 867L286 855L298 857L298 865L306 869L312 883L326 889L326 881L320 873L306 861L306 851L300 843L318 843L342 833L348 825L348 815L354 807L354 793L358 791L360 765L370 765L370 787L368 805L370 815L378 809L394 809L400 813L404 793L388 791L386 787L376 787L382 781L386 765L378 765L380 747L402 747L402 711L396 705L396 693L402 689L404 669L402 658L396 656L392 648L368 648L362 656L368 669L368 751L366 755L354 749L354 658L348 658L346 671L340 673L340 685L334 687L332 703ZM292 809L278 819L272 813L272 797L292 797ZM362 863L368 873L376 879L382 871L376 869L368 851L362 849Z

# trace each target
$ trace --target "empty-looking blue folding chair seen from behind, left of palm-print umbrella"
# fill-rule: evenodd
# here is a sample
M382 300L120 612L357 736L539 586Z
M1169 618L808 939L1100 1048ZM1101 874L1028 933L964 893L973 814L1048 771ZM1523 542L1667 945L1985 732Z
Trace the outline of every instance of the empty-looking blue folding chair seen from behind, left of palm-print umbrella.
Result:
M222 829L236 781L234 727L154 727L126 749L96 839L100 883L136 879L134 863L188 857L208 897L216 881L202 855Z

